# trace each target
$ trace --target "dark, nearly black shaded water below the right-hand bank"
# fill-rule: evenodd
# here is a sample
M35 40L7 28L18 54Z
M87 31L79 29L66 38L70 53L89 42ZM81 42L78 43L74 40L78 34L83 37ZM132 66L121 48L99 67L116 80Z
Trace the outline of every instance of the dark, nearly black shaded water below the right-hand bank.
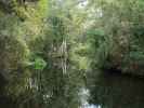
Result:
M100 108L144 108L144 78L100 73L92 79L90 104L101 105Z

